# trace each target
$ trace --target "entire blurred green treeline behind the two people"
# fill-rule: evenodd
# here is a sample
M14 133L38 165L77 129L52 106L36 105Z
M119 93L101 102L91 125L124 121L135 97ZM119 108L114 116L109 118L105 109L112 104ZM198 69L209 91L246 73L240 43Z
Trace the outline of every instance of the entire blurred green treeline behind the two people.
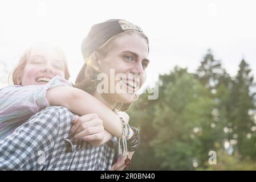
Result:
M129 111L141 132L129 169L255 170L254 88L245 60L230 77L210 50L196 73L176 67L160 75L159 98L143 94ZM209 164L209 151L216 151L217 164Z

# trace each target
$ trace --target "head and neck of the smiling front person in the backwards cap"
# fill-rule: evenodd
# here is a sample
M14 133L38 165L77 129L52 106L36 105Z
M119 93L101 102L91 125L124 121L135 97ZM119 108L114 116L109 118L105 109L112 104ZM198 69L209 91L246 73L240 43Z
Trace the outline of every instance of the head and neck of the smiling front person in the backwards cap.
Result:
M113 110L127 110L137 98L136 92L145 81L145 69L149 64L148 38L141 28L118 19L95 24L82 42L82 53L86 63L76 78L75 86ZM97 76L102 73L107 80L115 80L115 84L109 81L104 85L107 87L105 93L99 93L97 88L101 81ZM117 92L117 88L122 92ZM116 92L111 93L111 89ZM133 152L129 154L131 157ZM112 169L123 169L125 158L121 158L121 162L114 164Z

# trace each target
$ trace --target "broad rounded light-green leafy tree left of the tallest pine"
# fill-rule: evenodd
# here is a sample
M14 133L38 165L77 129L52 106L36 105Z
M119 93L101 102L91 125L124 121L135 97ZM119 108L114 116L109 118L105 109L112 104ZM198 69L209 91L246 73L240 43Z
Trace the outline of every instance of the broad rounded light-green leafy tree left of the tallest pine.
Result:
M203 165L214 148L213 117L209 119L214 102L209 90L185 69L176 67L169 77L161 87L164 99L155 106L157 135L151 146L162 161L161 169L194 169L193 161Z

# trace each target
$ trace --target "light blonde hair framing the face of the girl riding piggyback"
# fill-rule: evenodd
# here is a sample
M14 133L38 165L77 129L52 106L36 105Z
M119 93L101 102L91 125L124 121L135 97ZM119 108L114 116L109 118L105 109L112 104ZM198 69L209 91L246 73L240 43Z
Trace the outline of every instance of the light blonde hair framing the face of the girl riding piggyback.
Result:
M23 68L26 66L27 61L29 60L29 55L31 49L38 44L35 44L31 46L30 48L27 48L26 51L22 54L22 56L19 59L18 64L14 67L13 71L11 71L8 80L12 80L14 85L21 85L21 72L23 71ZM40 43L40 45L46 45L44 43ZM67 64L67 59L66 56L64 55L63 51L60 50L58 47L52 47L56 52L62 56L63 61L64 61L64 76L65 79L68 80L70 78L70 72L68 71L68 64Z

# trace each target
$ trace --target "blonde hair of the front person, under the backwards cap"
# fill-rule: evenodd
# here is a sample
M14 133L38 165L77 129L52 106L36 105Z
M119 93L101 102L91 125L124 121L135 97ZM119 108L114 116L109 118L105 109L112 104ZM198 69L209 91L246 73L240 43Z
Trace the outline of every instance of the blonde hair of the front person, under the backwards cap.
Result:
M121 24L132 24L132 23L129 23L125 20L119 20L119 24L121 25ZM147 45L149 45L147 36L143 32L139 32L136 30L124 30L123 32L121 32L119 34L112 36L112 38L108 39L96 51L91 53L91 55L85 60L87 63L87 67L84 71L84 79L82 82L75 84L75 86L77 88L82 89L85 92L88 92L90 94L94 94L94 92L96 91L96 88L97 88L97 84L99 84L99 82L100 82L99 80L97 80L97 75L100 73L100 71L99 71L99 65L97 64L97 57L96 57L95 53L97 53L100 57L107 56L108 52L114 46L113 42L120 36L127 35L127 34L128 35L137 34L137 35L141 36L142 38L144 38L147 42ZM130 102L130 103L119 102L116 105L115 110L118 110L118 111L128 110L132 106L133 102L137 100L137 98L138 97L135 94L135 98L132 102Z

